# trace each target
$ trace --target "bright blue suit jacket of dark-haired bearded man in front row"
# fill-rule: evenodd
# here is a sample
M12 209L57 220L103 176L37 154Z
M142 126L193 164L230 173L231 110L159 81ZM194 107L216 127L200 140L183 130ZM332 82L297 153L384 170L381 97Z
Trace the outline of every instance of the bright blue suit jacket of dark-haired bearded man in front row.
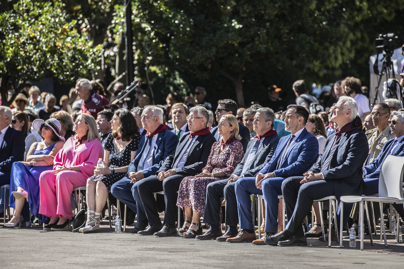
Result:
M282 156L282 152L288 144L290 135L280 138L275 153L271 161L267 163L259 173L266 174L275 172L276 177L291 177L302 175L313 163L318 156L318 140L315 136L309 133L306 128L297 137L295 142L289 147L288 153L285 156L283 163L279 169L278 160Z

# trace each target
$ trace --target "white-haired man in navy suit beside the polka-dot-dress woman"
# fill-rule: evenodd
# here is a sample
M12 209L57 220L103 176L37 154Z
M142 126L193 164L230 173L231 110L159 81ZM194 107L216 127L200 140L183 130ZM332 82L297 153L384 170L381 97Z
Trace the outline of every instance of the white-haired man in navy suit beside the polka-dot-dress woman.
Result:
M157 106L146 106L141 116L143 128L147 131L139 142L135 158L129 164L126 176L111 187L115 198L130 207L137 214L138 231L145 229L147 217L143 204L135 202L137 182L155 175L168 155L175 152L178 137L163 123L163 110Z

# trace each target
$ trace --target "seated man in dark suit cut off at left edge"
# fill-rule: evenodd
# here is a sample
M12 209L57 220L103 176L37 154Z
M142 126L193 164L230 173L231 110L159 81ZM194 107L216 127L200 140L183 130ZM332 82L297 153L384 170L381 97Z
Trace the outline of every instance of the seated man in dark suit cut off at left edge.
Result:
M21 131L11 128L13 113L7 106L0 106L0 186L10 184L11 166L24 161L25 139ZM13 190L14 191L14 190ZM0 213L4 208L4 192L1 194Z

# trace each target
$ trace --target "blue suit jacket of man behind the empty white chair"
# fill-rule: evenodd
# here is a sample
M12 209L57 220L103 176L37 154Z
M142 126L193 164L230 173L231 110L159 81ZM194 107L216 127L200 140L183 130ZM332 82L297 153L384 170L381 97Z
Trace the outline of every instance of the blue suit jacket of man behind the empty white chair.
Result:
M380 171L381 167L378 169L379 165L385 158L387 154L391 151L391 146L393 146L395 138L388 140L384 147L383 150L379 153L377 158L375 158L369 165L366 165L364 167L365 170L365 175L368 175L369 178L379 178L380 176ZM398 142L398 145L396 148L394 148L393 152L391 152L391 155L393 156L404 156L404 139Z

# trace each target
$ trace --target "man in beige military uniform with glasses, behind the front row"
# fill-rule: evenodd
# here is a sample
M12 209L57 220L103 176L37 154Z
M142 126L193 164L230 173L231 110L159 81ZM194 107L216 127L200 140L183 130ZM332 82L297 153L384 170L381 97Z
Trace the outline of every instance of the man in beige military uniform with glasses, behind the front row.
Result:
M388 124L390 107L386 103L376 104L373 107L370 116L372 116L373 126L376 128L365 132L369 143L369 157L366 164L371 163L377 158L379 153L383 150L387 140L393 137L390 133L390 127Z

